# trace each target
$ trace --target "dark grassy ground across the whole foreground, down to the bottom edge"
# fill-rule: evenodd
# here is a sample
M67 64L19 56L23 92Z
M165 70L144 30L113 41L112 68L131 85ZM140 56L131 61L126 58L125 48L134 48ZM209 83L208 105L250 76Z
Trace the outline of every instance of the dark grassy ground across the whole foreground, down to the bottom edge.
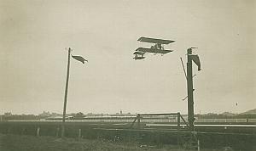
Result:
M40 130L39 132L38 128ZM68 138L63 140L58 138L61 133L60 123L0 122L0 134L2 133L0 140L2 145L0 146L0 151L4 149L7 151L79 149L178 150L175 145L177 145L178 142L179 144L184 145L184 139L188 137L186 131L181 131L181 139L177 139L177 131L171 131L172 129L170 131L154 129L154 127L150 127L150 129L131 129L127 126L115 125L113 123L73 122L67 123L66 130L65 136ZM41 137L35 137L37 136L37 133ZM215 127L207 127L199 131L197 138L200 140L201 148L203 149L215 148L215 150L219 150L224 147L232 147L233 149L240 151L255 151L255 134L255 127L249 127L249 129L247 129L247 127L237 127L236 129L230 129L229 127L227 129L224 129L223 127L217 127L217 129ZM78 141L76 138L79 136L84 139ZM42 146L39 144L42 144ZM95 144L100 144L101 146ZM140 147L141 145L143 146Z

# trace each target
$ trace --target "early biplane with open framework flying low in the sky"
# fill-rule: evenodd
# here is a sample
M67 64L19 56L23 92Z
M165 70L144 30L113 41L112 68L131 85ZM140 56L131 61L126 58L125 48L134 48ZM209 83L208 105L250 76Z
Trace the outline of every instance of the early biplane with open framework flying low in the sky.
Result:
M148 38L148 37L140 37L137 41L154 43L154 46L151 46L151 48L137 48L135 50L135 53L133 53L136 55L133 59L137 59L137 58L145 59L145 57L143 57L144 53L154 53L154 54L160 53L161 55L170 53L173 50L166 50L163 45L167 45L172 42L175 42L171 40L155 39L155 38Z

